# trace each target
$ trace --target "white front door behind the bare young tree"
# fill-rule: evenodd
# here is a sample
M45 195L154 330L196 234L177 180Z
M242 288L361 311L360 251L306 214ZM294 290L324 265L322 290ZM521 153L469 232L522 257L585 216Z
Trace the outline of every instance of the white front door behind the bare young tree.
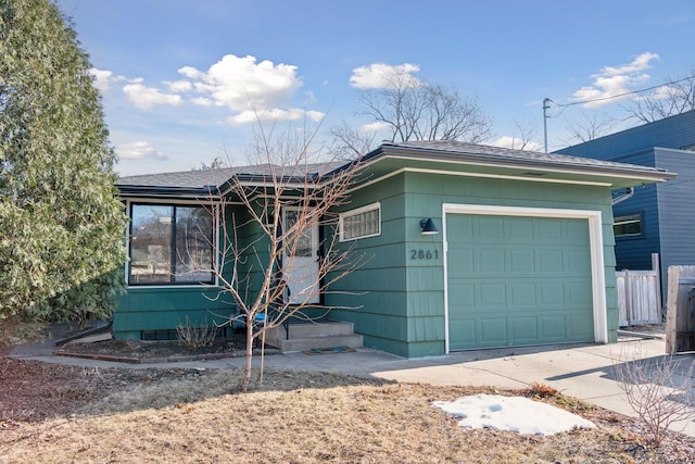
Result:
M283 210L283 230L289 230L302 214L296 208ZM320 283L318 278L319 266L319 240L318 224L306 227L296 243L296 249L286 250L282 256L285 279L290 290L290 304L319 303ZM294 251L293 254L290 254Z

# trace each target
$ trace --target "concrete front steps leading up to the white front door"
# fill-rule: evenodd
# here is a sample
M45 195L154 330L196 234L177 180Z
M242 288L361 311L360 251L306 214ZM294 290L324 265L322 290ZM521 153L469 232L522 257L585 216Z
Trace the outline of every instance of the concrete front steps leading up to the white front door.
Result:
M280 326L266 333L265 342L281 351L302 351L312 348L363 346L361 335L354 333L352 323L326 321L319 323L295 322L286 328Z

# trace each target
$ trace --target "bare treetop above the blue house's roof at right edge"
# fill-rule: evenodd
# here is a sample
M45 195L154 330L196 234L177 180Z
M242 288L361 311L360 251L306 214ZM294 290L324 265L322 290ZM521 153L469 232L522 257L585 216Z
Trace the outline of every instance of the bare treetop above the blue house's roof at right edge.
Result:
M624 109L631 117L644 123L695 110L695 67L691 67L685 75L669 79L655 92L635 98Z

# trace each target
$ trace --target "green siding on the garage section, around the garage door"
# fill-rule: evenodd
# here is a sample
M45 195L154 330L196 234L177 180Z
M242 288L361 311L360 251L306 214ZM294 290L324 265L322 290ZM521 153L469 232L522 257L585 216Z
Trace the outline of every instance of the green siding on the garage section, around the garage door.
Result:
M354 243L356 251L371 253L371 261L336 287L364 293L327 298L333 304L358 302L361 309L337 312L336 318L355 323L366 346L412 358L444 353L443 235L422 236L419 228L420 220L431 217L442 231L443 203L602 211L609 340L617 339L608 187L407 172L357 190L344 209L376 200L382 235Z

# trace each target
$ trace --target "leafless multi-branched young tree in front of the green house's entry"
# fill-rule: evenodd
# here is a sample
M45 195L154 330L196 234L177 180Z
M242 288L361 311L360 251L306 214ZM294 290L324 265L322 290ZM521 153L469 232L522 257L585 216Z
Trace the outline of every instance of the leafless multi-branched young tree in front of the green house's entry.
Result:
M348 201L359 161L313 163L313 137L291 130L276 136L275 127L258 126L252 160L256 173L235 175L211 202L214 217L224 218L213 268L222 287L218 298L231 296L239 313L229 323L245 325L242 390L251 378L254 340L291 317L306 316L308 309L336 309L318 305L316 297L331 292L332 284L365 261L352 247L338 247L334 213ZM311 246L316 227L324 230L318 254ZM317 272L300 278L299 286L295 279L290 294L292 275L302 274L300 256L317 263Z

